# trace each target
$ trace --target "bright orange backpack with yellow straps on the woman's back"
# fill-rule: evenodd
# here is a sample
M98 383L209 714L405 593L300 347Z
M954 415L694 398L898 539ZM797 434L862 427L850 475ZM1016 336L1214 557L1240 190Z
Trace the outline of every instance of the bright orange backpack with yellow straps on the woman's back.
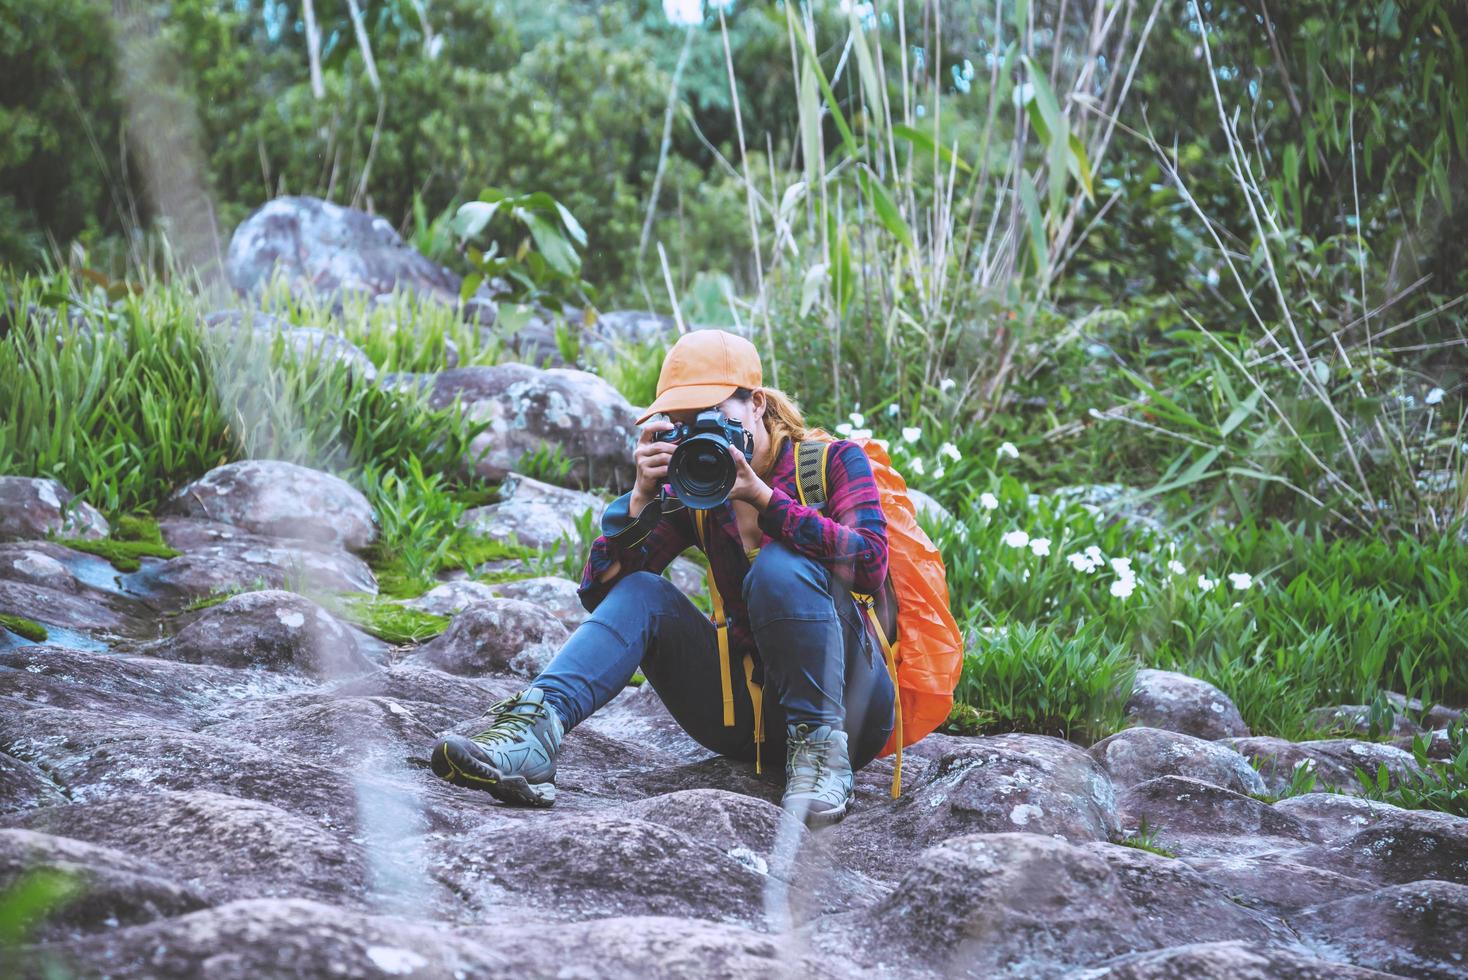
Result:
M821 430L816 430L821 431ZM963 634L948 609L948 579L942 555L918 525L918 515L907 496L907 483L893 468L893 461L881 443L851 439L866 453L876 478L882 515L887 518L887 578L881 594L851 590L863 606L887 660L887 672L897 692L895 725L887 744L878 753L895 754L891 795L901 795L903 747L912 745L948 719L953 691L963 670ZM829 442L806 439L796 443L796 487L800 503L824 508L826 502L826 453ZM700 541L703 522L694 512ZM715 625L724 622L722 601L709 571L709 596L713 601ZM725 723L733 725L733 691L728 670L728 647L719 628L721 668L725 678ZM746 654L746 660L749 656ZM752 678L752 663L744 665L746 684L755 703L756 750L763 741L760 691Z

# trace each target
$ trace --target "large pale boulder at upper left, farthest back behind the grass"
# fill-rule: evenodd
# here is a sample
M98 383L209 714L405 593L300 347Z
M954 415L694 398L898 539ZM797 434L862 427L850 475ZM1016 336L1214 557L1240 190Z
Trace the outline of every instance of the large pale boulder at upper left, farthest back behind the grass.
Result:
M459 277L429 261L382 217L310 197L267 201L235 229L225 260L241 293L258 292L279 271L292 293L402 289L458 307Z

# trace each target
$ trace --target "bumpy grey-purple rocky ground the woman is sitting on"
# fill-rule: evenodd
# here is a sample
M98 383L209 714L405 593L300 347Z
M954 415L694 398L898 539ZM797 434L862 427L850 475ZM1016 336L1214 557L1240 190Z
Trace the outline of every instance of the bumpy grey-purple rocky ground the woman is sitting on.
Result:
M553 810L512 810L426 757L564 643L574 584L446 584L423 601L449 631L390 648L282 588L374 588L370 511L333 477L214 471L161 521L182 555L131 574L44 540L109 533L68 497L0 480L0 612L50 631L0 632L0 885L85 880L23 971L1468 976L1468 820L1251 795L1296 764L1409 769L1393 745L1249 736L1216 688L1144 670L1135 728L1089 750L932 735L900 800L879 760L810 833L643 687L568 736ZM477 519L515 525L493 506ZM1144 819L1174 857L1122 844Z

